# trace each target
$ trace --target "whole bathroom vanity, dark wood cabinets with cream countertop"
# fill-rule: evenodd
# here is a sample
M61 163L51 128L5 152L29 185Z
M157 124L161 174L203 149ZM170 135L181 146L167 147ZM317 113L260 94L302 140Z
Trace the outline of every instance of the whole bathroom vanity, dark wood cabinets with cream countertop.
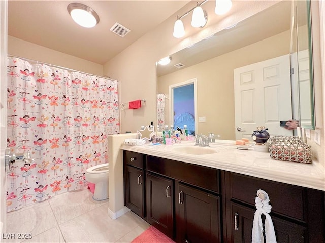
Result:
M258 189L270 197L278 243L325 242L317 163L272 160L231 144L203 154L186 142L121 149L124 205L176 242L251 242Z

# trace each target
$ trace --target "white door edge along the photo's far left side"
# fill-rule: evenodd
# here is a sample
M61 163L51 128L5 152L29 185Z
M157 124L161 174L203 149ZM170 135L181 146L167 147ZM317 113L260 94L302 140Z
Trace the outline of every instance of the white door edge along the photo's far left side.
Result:
M6 171L7 147L7 1L0 1L0 230L6 233Z

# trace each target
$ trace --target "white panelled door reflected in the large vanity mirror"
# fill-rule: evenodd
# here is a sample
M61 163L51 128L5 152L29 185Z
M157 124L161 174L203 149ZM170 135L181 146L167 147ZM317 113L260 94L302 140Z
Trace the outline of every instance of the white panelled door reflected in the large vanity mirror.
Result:
M236 68L234 82L236 140L251 139L258 126L271 136L293 136L280 127L280 120L293 116L289 55Z

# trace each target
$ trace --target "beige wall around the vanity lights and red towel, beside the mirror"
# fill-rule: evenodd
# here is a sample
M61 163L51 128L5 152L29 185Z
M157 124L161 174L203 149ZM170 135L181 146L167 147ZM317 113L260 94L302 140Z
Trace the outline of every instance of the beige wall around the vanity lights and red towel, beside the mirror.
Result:
M193 7L186 5L156 29L144 35L119 55L104 65L104 75L119 79L120 102L146 99L146 106L139 110L125 109L121 112L121 132L136 132L141 125L156 124L156 64L155 62L171 53L175 53L201 39L231 26L256 12L276 4L277 1L240 1L232 8L229 16L217 16L214 13L215 2L204 4L209 20L203 29L189 26L190 16L184 17L187 37L173 37L173 26L177 15L182 15Z

